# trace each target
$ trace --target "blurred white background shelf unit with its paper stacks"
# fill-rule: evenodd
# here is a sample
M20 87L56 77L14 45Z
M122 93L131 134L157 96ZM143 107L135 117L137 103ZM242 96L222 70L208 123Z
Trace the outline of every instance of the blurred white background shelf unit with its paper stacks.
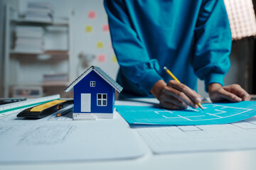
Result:
M12 6L6 4L4 97L22 94L30 97L31 91L38 91L36 97L46 94L69 97L64 94L64 89L74 79L71 71L71 14L69 18L55 19L54 9L46 3L43 4L43 17L41 13L31 15L31 4L37 6L37 2L28 2L25 16L19 16ZM46 75L60 74L65 75L65 79L60 80L57 76L45 80ZM53 91L50 92L50 89Z

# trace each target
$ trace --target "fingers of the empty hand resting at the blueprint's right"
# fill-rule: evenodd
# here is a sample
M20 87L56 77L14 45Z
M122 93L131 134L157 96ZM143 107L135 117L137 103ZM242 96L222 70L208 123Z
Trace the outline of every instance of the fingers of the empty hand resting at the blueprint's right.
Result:
M242 101L250 101L250 95L238 84L224 86L223 89L242 98Z

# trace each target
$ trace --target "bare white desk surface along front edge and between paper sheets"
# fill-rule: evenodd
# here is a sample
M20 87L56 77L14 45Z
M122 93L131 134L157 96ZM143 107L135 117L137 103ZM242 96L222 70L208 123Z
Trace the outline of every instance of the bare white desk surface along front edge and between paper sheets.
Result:
M118 103L118 101L117 101ZM43 162L0 164L8 169L256 169L256 149L215 152L186 152L178 154L153 154L136 129L134 135L144 146L146 154L138 159L121 159L92 162ZM256 145L256 144L255 144ZM97 151L95 151L97 152ZM1 154L1 151L0 151ZM40 154L40 153L38 153Z

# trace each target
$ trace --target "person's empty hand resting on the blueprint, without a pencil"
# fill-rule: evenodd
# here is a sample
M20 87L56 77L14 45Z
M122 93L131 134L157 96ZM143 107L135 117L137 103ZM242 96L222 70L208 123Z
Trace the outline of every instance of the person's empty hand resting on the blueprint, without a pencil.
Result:
M210 100L215 103L222 101L250 101L250 95L247 94L247 92L238 84L232 84L229 86L221 86L217 83L209 84L208 92Z

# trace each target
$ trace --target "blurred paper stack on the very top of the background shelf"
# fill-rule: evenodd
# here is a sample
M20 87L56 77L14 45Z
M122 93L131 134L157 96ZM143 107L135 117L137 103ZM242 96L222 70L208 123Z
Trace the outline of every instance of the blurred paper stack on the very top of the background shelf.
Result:
M46 2L28 2L25 18L32 21L52 22L53 6Z

